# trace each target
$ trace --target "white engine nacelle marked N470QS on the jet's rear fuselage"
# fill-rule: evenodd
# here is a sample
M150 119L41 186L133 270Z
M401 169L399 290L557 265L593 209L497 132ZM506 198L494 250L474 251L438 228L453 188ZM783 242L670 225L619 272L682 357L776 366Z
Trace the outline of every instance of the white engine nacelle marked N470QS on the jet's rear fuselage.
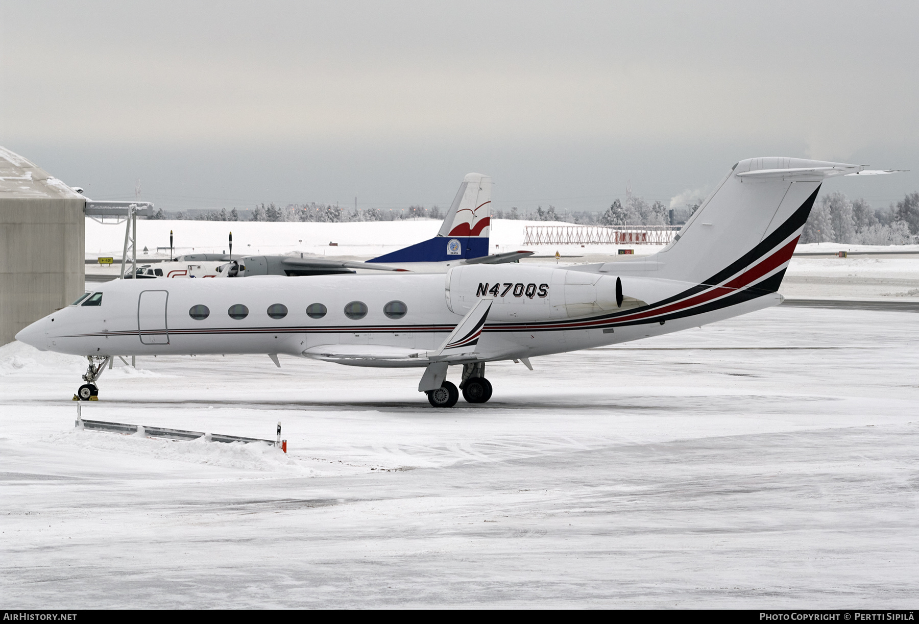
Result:
M644 305L622 295L619 278L553 267L467 265L447 273L447 307L465 314L494 297L489 321L550 321Z

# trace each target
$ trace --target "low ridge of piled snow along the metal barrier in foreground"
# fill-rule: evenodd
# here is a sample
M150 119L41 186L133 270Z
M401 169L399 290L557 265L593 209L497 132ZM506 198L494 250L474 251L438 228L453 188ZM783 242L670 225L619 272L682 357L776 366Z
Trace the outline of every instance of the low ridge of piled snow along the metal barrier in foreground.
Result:
M191 441L165 440L141 434L126 436L103 431L71 429L51 434L48 441L73 448L89 448L133 456L184 461L187 463L235 468L247 471L283 472L296 476L317 476L318 471L301 466L281 449L267 444L208 442L203 437Z

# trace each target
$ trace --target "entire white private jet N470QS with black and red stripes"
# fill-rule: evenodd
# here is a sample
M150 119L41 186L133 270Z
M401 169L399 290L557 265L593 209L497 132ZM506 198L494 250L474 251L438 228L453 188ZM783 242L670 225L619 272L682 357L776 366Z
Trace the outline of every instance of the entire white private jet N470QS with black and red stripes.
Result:
M17 339L87 357L81 399L96 398L96 380L116 355L260 353L277 364L283 353L424 369L418 390L437 407L457 402L447 374L449 366L461 366L463 397L484 403L492 395L487 362L529 366L530 357L777 305L823 178L875 173L862 169L797 158L744 160L673 243L641 259L573 268L460 265L446 276L117 280L32 323Z

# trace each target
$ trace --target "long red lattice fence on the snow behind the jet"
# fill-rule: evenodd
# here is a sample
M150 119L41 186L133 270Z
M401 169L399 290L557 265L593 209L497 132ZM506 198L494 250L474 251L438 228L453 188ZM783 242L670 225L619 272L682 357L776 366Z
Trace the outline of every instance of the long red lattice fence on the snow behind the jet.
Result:
M678 225L527 225L523 244L668 244Z

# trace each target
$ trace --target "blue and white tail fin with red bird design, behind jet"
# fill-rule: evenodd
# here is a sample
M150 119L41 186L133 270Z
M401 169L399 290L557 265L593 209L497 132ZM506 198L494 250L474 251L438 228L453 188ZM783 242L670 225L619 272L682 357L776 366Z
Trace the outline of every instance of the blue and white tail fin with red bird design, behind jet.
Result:
M448 262L488 255L492 222L492 178L468 174L434 238L368 262Z

